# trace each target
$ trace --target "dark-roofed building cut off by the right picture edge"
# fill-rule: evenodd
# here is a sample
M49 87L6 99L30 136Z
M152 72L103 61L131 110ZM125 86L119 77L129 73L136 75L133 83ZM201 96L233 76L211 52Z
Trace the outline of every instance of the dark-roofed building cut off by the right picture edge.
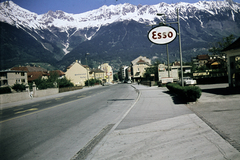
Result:
M240 86L240 37L228 47L222 50L227 56L228 83L229 87Z

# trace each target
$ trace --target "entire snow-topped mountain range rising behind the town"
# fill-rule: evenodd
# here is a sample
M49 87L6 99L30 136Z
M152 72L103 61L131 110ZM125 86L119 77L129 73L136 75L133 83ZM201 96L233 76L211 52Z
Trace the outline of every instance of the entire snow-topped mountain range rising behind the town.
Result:
M151 43L152 25L176 22L179 9L183 61L208 54L223 37L240 36L240 4L232 0L197 3L128 3L81 14L49 11L38 15L12 1L0 3L0 69L46 63L65 70L75 60L92 68L108 62L116 71L142 55L167 61L166 46ZM164 16L157 16L164 13ZM177 30L177 24L171 24ZM170 61L179 59L178 38L169 44ZM86 53L90 53L86 57Z

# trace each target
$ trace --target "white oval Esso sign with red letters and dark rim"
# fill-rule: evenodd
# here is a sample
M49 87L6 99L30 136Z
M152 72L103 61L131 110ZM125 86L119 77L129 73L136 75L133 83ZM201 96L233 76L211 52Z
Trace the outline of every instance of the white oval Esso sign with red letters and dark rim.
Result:
M177 32L169 26L159 26L148 32L148 39L155 44L168 44L177 37Z

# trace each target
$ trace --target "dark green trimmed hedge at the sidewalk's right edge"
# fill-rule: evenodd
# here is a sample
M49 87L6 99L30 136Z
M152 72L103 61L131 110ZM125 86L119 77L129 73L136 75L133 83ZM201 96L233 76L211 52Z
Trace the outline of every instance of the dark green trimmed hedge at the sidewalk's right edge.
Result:
M176 93L177 96L187 102L195 102L202 95L202 91L197 86L180 86L177 83L167 84L167 88L170 92Z

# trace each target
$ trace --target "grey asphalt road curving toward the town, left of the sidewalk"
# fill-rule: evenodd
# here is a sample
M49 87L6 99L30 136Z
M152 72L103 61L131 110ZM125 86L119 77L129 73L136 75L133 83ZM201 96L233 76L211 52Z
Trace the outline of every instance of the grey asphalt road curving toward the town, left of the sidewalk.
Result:
M0 159L71 159L136 99L131 85L118 84L4 109Z

